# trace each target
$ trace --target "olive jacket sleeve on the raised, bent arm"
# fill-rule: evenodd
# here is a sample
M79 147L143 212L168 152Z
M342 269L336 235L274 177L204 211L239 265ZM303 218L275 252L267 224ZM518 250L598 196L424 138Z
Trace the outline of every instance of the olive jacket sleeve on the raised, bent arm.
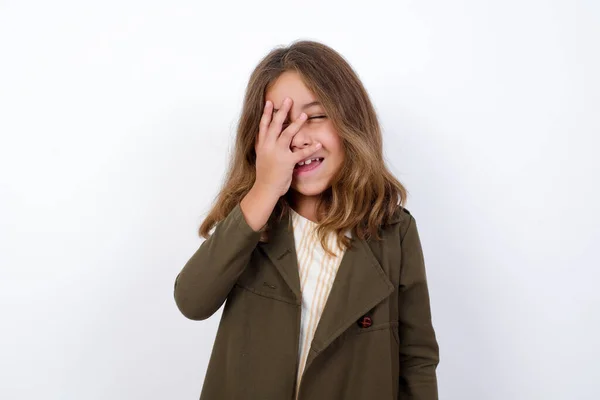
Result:
M238 203L175 278L179 311L192 320L213 315L248 265L260 236L248 225Z

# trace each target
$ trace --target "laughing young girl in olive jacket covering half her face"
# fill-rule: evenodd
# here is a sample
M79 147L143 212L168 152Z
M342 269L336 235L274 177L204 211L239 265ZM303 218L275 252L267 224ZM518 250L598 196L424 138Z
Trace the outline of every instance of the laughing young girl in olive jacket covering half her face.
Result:
M227 300L200 398L437 399L438 344L405 199L340 54L297 41L263 58L200 227L207 239L175 280L189 319Z

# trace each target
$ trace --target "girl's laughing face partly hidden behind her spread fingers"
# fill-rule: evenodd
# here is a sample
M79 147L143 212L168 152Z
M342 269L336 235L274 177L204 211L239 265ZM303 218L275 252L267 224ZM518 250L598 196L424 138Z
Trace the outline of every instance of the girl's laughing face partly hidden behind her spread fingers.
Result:
M310 165L301 167L296 165L291 189L300 197L318 196L331 186L333 176L341 168L344 161L342 141L318 99L304 85L297 72L282 73L266 93L266 100L273 102L274 112L282 108L286 97L291 98L293 104L282 130L290 122L295 121L302 112L308 116L292 139L290 144L292 152L315 142L322 144L322 147L310 156L310 159L320 158L322 161L311 161Z

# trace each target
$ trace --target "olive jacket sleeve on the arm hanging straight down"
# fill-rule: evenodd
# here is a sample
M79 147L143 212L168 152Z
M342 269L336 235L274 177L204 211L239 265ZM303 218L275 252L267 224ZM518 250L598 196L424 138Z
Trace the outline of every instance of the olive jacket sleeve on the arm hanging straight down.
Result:
M402 236L399 288L400 400L437 400L439 348L431 322L421 241L414 217Z

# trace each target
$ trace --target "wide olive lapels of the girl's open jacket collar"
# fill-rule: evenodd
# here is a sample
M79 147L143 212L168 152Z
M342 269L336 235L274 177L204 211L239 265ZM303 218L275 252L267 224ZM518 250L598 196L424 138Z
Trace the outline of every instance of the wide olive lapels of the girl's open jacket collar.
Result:
M390 223L393 222L395 219ZM269 233L269 242L260 243L260 246L294 294L296 304L302 304L298 258L289 214L274 224ZM320 352L393 291L394 285L367 241L353 238L352 245L342 256L317 325L305 370Z

